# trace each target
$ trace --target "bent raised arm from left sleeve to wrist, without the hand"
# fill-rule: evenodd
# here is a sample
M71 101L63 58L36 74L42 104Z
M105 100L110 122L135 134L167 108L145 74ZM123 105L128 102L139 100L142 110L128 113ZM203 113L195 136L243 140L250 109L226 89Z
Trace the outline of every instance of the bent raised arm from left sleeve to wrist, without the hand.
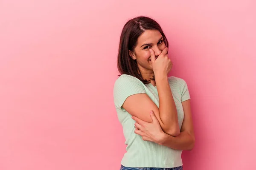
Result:
M152 122L148 113L151 110L154 111L163 132L171 136L177 136L180 133L180 129L177 123L177 111L168 78L159 78L156 82L158 83L159 108L147 94L134 94L129 96L122 107L132 116L148 123Z

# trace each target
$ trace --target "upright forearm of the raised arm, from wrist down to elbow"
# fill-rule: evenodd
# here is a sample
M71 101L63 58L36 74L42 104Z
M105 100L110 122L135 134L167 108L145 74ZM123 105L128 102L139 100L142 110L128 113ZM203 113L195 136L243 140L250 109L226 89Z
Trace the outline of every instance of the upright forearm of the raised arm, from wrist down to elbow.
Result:
M177 109L168 82L168 77L155 77L159 96L159 115L163 122L163 131L172 136L180 133L178 125Z

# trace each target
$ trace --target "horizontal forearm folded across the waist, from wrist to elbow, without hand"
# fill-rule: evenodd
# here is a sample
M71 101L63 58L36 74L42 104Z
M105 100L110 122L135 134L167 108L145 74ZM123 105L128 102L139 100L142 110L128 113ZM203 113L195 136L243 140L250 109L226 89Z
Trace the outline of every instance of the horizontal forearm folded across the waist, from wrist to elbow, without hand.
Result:
M180 132L180 135L176 137L165 133L158 144L175 150L192 150L195 145L195 137L186 131Z

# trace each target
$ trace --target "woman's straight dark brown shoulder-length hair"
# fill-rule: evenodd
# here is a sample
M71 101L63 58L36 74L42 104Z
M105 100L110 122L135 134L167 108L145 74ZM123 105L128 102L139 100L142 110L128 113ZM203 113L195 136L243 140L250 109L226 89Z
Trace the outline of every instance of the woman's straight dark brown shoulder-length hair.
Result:
M129 55L129 50L134 52L134 48L137 46L137 40L145 30L158 30L163 36L163 42L166 47L169 47L169 43L162 28L155 20L145 16L135 17L125 23L125 26L122 29L119 42L117 68L120 74L134 76L140 79L144 84L148 84L149 80L143 79L140 74L137 61L132 59Z

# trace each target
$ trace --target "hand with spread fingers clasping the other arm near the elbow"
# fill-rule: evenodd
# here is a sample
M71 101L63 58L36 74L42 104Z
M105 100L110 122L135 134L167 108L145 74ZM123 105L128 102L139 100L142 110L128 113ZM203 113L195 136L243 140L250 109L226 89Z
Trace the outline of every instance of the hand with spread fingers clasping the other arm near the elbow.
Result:
M142 136L142 139L144 141L151 141L160 144L163 141L166 133L163 132L153 111L150 112L150 116L152 119L152 123L145 122L135 116L132 116L132 119L136 121L134 124L134 133Z

